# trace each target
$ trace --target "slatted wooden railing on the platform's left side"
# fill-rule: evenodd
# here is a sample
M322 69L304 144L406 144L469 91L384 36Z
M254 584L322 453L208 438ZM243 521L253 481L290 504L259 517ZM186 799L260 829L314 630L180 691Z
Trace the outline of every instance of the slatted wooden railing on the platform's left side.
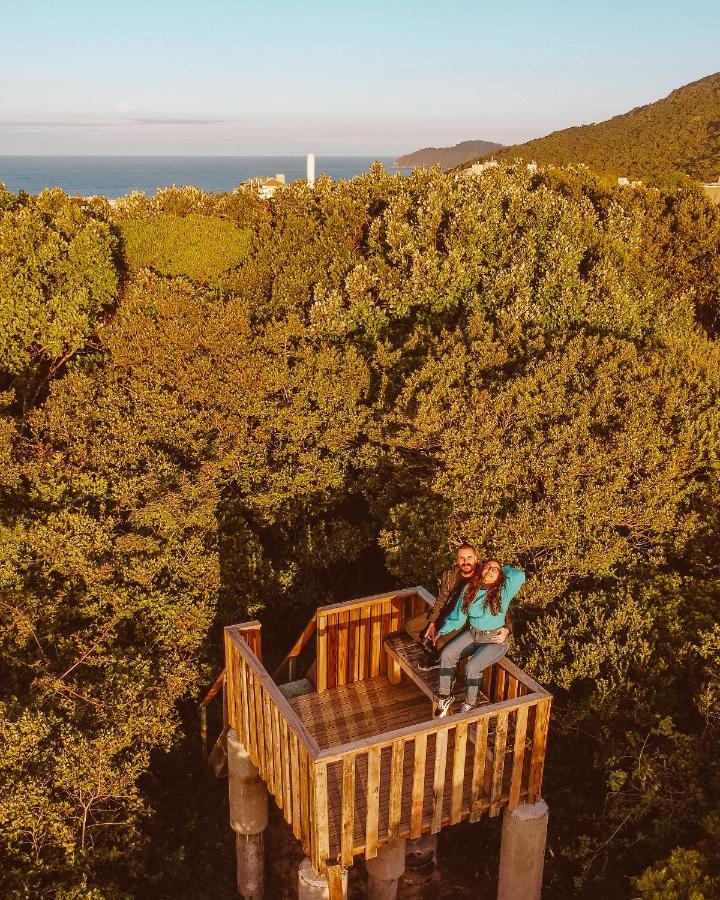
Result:
M225 629L229 724L310 854L320 748L246 642L245 627Z

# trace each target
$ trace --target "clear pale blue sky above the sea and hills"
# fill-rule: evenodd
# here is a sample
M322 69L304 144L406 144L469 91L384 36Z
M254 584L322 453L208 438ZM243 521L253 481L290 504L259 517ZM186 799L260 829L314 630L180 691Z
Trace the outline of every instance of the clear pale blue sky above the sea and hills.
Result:
M517 143L720 69L720 3L0 0L0 154Z

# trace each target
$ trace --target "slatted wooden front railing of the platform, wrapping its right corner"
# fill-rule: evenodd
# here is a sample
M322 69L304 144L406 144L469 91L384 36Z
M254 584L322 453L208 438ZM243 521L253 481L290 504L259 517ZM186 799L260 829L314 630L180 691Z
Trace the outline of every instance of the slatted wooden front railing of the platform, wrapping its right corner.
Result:
M506 660L489 681L491 705L320 753L321 858L339 846L342 865L351 865L356 853L375 856L379 843L536 802L551 697ZM358 809L364 821L356 821Z

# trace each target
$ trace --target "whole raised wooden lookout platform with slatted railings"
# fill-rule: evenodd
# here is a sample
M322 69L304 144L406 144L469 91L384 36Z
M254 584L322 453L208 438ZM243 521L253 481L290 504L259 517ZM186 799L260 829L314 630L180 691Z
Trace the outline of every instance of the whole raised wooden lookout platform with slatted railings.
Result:
M315 637L315 691L292 698L251 646L257 623L225 629L228 724L336 887L358 853L540 796L552 698L505 657L483 673L478 707L459 711L459 681L451 714L433 721L439 671L418 670L424 651L402 633L431 603L405 588L320 607L276 676L293 681Z

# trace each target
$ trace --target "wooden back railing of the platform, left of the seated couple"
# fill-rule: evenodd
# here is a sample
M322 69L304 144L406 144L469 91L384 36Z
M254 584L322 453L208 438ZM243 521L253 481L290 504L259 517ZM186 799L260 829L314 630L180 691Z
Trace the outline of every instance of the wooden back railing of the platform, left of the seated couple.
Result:
M388 663L383 647L385 638L434 602L424 588L413 587L321 606L316 613L318 693L378 675L398 681L399 670L392 660Z

